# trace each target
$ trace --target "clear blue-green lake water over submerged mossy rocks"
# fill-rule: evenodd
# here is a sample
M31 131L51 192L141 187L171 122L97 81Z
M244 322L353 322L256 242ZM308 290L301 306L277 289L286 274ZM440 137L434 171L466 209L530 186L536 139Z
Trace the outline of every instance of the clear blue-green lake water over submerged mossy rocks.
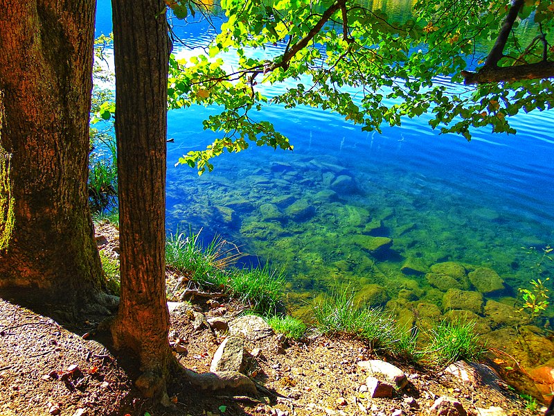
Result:
M102 3L105 16L108 3ZM105 19L97 24L105 33L108 27ZM179 31L190 46L209 34L202 24ZM355 291L378 284L389 305L404 299L400 307L406 307L407 299L415 309L442 308L445 290L425 274L445 261L497 272L505 290L485 297L504 304L513 304L517 288L531 279L554 277L554 261L543 256L554 245L553 111L513 118L515 136L480 130L467 142L438 135L425 116L379 134L319 109L274 105L262 116L289 137L294 152L251 146L218 158L215 171L202 177L175 167L181 155L215 139L202 129L215 110L169 114L175 142L168 144L168 230L202 229L204 239L219 235L239 245L245 264L285 266L292 302L344 284ZM392 244L370 252L362 235ZM403 270L409 265L420 272ZM554 315L552 308L546 315Z

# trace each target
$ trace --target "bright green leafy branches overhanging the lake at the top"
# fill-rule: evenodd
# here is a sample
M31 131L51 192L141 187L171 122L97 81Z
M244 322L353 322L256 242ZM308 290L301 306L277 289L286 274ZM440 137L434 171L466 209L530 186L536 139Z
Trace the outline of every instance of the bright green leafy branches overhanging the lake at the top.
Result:
M429 113L431 128L467 140L470 128L487 125L515 133L510 116L553 106L552 0L418 0L404 21L371 4L222 0L226 21L206 52L170 60L170 108L220 106L204 128L222 136L179 163L203 173L212 157L251 142L292 149L256 114L271 103L321 107L377 131ZM213 10L188 0L168 6L177 17ZM441 76L470 85L434 82ZM265 94L267 85L279 88Z

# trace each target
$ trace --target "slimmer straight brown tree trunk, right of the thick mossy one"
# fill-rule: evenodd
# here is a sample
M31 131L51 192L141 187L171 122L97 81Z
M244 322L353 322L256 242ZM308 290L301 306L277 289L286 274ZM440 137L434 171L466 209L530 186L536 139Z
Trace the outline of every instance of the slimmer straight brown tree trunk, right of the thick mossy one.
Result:
M170 42L163 0L112 0L120 223L114 346L136 358L146 397L163 397L176 363L166 303L166 134Z

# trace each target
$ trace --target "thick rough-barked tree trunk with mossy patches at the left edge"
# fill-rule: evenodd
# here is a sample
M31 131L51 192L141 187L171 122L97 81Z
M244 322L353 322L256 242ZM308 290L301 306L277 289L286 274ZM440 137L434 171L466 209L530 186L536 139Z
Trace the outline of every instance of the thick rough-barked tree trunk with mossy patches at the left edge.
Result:
M88 206L95 1L0 0L0 292L83 306L102 287Z

